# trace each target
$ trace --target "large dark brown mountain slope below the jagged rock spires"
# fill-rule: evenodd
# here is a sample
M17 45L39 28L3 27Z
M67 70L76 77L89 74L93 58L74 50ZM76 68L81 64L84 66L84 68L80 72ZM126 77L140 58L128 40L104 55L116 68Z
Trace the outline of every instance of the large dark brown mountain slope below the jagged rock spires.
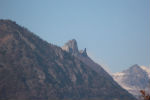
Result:
M108 77L15 22L0 20L0 100L136 100Z

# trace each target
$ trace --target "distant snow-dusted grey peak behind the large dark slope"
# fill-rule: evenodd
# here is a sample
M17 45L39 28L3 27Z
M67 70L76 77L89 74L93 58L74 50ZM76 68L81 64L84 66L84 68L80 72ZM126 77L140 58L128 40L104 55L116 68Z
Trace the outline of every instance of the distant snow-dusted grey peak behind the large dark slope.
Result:
M134 96L139 97L140 90L149 86L150 73L145 66L137 64L122 72L114 73L113 78Z

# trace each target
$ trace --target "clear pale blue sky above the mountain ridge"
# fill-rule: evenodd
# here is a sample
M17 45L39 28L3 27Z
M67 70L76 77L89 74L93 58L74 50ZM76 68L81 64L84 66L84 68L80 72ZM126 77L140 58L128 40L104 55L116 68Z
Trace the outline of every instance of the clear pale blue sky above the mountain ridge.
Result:
M150 0L0 0L0 19L57 46L76 39L113 73L150 65Z

